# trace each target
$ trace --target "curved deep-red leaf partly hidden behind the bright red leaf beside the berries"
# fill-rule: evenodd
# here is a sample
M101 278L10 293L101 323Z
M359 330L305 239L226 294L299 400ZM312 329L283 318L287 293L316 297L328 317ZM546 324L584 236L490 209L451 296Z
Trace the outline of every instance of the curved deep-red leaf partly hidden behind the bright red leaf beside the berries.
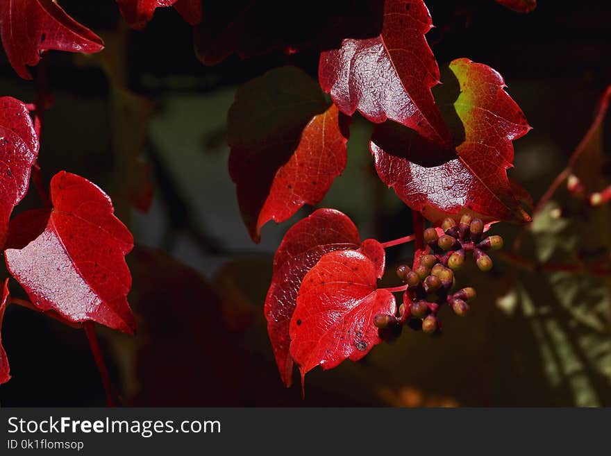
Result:
M292 383L289 323L303 276L325 253L357 248L360 237L354 223L337 210L319 209L287 231L274 256L274 276L265 299L267 332L282 381Z

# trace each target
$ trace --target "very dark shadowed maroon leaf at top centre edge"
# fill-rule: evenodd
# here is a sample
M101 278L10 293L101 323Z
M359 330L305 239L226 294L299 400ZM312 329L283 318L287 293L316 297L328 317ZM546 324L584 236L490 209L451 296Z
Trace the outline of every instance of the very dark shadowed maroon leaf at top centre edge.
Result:
M216 65L233 53L250 58L333 49L346 37L378 35L382 7L379 0L206 1L195 28L196 53Z

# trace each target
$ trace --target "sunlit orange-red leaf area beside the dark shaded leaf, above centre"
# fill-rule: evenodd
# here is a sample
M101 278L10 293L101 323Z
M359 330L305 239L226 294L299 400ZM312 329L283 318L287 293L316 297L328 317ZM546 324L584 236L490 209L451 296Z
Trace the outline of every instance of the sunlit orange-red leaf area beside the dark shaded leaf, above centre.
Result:
M281 223L304 204L319 203L333 179L342 174L346 167L348 133L342 133L339 116L335 105L331 105L305 126L299 146L276 172L269 196L259 213L257 236L267 221Z

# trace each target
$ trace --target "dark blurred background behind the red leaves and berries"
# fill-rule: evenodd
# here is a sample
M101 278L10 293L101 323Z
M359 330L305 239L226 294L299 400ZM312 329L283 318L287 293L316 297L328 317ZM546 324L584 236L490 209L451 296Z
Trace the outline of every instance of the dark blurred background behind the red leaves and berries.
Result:
M440 65L468 57L498 70L533 126L514 144L510 176L536 201L566 165L611 83L611 7L540 0L535 12L521 15L492 0L426 3L437 26L427 38ZM283 233L312 208L280 226L269 223L262 242L251 242L227 171L226 114L237 87L268 69L296 65L316 76L317 53L232 56L207 67L194 55L192 28L172 8L158 8L147 28L131 31L114 1L60 4L101 35L106 49L90 57L47 56L54 103L39 161L46 183L65 169L100 185L134 234L128 300L138 333L98 328L124 405L611 405L610 280L521 271L502 260L489 276L468 268L458 275L478 298L467 318L442 314L442 337L405 328L361 362L309 373L304 400L297 376L285 389L263 303ZM35 99L34 83L22 81L3 53L0 94ZM377 178L370 133L355 115L348 166L319 206L348 214L364 239L384 241L410 233L410 211ZM608 154L608 127L603 140ZM608 165L600 171L609 177ZM142 202L135 188L147 176L154 196L141 212L130 203ZM31 192L15 213L37 204ZM601 214L580 221L596 223L604 246L611 219ZM545 244L550 236L559 244L579 242L585 231L570 223L555 230L557 221L540 219L526 253L548 255L557 247ZM508 246L521 230L494 229ZM412 257L409 246L388 254L389 271ZM16 282L11 289L17 294ZM83 331L12 306L2 342L12 375L0 387L2 405L105 404Z

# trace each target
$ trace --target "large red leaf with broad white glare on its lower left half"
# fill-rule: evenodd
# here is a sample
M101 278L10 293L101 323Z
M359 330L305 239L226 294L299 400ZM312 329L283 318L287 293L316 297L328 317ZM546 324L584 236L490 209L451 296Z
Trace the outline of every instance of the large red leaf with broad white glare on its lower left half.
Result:
M110 198L89 180L61 171L51 180L51 202L42 234L20 250L5 251L8 270L40 310L132 333L124 255L133 237L112 214Z

